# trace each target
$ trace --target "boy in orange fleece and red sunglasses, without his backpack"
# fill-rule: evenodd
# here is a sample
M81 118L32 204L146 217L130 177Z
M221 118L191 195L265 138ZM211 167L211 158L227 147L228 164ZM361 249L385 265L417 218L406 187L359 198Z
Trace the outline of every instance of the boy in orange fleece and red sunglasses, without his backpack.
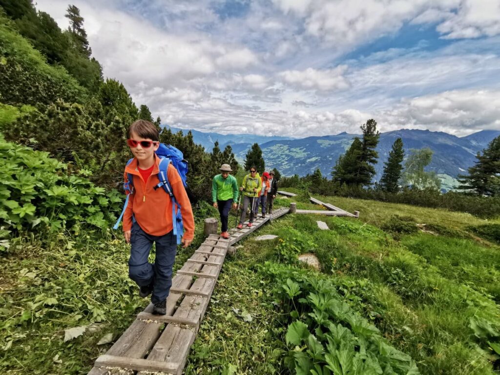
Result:
M131 244L128 275L140 287L141 297L152 293L153 313L164 315L166 297L172 285L177 239L173 234L172 199L163 188L154 188L159 183L160 158L154 153L159 146L159 134L151 122L137 120L128 128L127 137L127 143L135 156L125 166L124 173L125 183L128 173L133 178L133 192L123 214L123 234ZM171 163L166 174L181 207L185 228L181 243L187 247L194 236L191 204L182 180ZM156 243L156 256L154 264L151 264L147 257L153 242Z

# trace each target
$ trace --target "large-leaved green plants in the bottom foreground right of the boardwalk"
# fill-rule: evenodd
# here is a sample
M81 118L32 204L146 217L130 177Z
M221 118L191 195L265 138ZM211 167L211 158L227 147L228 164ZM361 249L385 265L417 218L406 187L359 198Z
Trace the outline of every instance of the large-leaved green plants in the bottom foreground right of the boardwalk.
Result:
M266 262L260 272L289 313L285 364L297 374L418 374L411 357L387 343L326 277ZM291 321L293 320L293 321Z

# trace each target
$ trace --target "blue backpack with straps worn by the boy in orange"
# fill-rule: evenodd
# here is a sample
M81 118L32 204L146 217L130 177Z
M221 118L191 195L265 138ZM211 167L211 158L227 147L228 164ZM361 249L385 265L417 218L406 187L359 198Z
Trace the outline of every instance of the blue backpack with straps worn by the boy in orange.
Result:
M173 224L173 235L177 237L177 244L180 243L180 240L182 238L182 232L184 230L184 226L182 225L182 215L180 214L180 204L177 202L175 199L175 196L173 195L172 192L172 186L170 185L170 182L168 181L166 170L168 169L168 164L172 163L172 165L177 169L177 172L180 175L180 179L182 180L182 184L184 185L184 188L187 188L187 183L186 183L186 174L187 174L187 161L184 160L184 155L182 152L178 149L175 148L174 146L170 144L164 144L160 143L158 149L156 150L156 155L161 159L158 163L158 179L159 182L156 184L156 186L153 187L154 190L156 190L159 187L163 187L163 190L170 196L170 199L172 200L172 224ZM126 165L130 164L130 162L133 160L129 159L126 163ZM126 199L125 203L123 204L123 209L121 210L120 217L118 217L118 220L113 226L113 229L118 229L118 225L121 221L121 218L123 217L123 213L125 212L125 208L128 204L128 198L131 193L133 193L133 177L132 174L127 173L127 181L123 183L123 189L125 190L126 193ZM175 213L175 207L177 207L177 213ZM132 219L135 221L135 219L132 217Z

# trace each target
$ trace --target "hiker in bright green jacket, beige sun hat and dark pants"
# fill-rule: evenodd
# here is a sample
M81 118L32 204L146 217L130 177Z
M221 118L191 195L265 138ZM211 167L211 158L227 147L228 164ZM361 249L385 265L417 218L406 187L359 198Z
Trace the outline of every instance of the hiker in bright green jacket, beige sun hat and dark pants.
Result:
M213 206L218 208L220 214L222 238L229 238L227 233L227 220L229 218L229 210L236 208L236 200L238 199L238 183L236 178L229 174L232 172L229 164L222 164L219 168L220 174L213 177L212 180L212 201Z

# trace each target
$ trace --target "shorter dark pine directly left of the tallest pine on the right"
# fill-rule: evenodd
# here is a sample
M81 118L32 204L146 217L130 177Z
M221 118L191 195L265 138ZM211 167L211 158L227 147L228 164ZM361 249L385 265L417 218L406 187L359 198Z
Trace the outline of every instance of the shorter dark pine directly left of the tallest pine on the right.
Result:
M359 137L354 137L349 149L345 154L340 155L333 166L331 176L333 182L338 182L340 185L357 185L359 184L360 169L359 162L363 152L363 145Z

